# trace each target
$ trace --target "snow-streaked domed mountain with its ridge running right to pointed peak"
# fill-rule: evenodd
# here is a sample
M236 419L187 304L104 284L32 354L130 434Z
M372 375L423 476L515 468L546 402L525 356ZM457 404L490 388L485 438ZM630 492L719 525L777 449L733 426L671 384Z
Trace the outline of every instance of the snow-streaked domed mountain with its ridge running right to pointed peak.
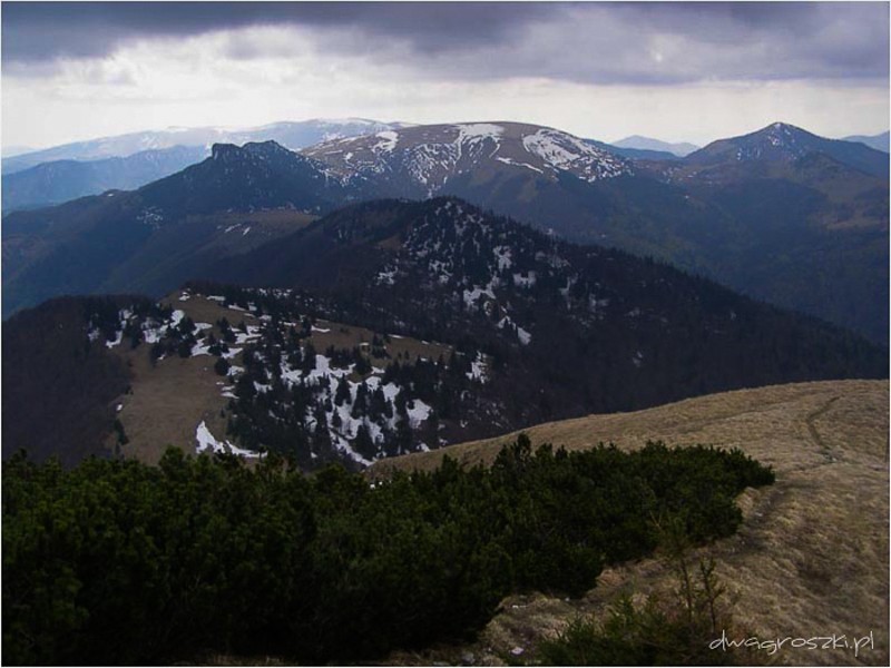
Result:
M888 341L888 157L862 144L774 124L679 161L631 160L559 130L492 122L305 153L378 194L456 195Z

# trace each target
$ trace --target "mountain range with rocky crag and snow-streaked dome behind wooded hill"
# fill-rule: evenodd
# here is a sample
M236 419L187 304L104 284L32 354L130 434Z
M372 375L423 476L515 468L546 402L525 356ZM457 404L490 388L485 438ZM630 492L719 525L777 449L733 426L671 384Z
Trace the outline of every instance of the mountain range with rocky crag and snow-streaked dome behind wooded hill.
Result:
M438 195L888 342L887 155L783 124L677 160L499 121L388 129L303 156L274 143L217 145L210 159L134 193L8 215L4 313L71 291L159 295L306 215ZM242 238L226 232L235 224Z

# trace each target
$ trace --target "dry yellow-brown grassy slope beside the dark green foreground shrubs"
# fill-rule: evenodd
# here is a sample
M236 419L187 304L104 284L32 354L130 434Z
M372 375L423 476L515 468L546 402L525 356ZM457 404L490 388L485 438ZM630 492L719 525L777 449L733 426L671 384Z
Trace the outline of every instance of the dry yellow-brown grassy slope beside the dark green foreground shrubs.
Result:
M740 498L740 531L698 556L712 556L727 587L734 628L728 639L782 640L753 660L776 665L889 664L889 390L887 381L840 381L728 392L636 413L591 415L526 430L533 444L569 450L598 442L639 448L711 443L740 448L773 465L776 483ZM491 462L515 434L446 449L468 463ZM443 452L382 462L430 469ZM503 602L479 640L423 654L399 652L394 664L501 664L523 660L537 642L578 615L603 613L625 591L648 596L675 587L670 568L646 559L604 571L577 601L544 595ZM855 654L854 645L870 636ZM799 639L835 636L817 648ZM844 636L844 638L842 638ZM849 648L843 647L845 641ZM834 645L828 648L826 645ZM715 651L721 651L716 649Z

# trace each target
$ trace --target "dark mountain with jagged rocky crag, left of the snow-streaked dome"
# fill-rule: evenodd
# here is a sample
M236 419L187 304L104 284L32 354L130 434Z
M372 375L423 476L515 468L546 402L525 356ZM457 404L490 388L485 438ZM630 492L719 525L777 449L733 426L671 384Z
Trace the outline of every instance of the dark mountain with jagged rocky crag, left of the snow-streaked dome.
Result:
M355 194L355 195L353 195ZM160 295L203 263L291 232L361 191L274 141L212 157L133 191L3 219L4 313L60 294Z

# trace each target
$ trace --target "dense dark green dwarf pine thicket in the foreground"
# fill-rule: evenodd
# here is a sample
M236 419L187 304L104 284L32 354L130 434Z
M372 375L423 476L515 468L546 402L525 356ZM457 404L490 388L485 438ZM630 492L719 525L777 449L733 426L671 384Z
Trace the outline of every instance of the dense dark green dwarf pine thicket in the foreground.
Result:
M773 482L742 452L506 446L370 483L270 455L159 466L23 454L2 471L6 664L157 664L205 652L361 661L472 636L513 591L580 596L649 554L654 520L732 533Z

